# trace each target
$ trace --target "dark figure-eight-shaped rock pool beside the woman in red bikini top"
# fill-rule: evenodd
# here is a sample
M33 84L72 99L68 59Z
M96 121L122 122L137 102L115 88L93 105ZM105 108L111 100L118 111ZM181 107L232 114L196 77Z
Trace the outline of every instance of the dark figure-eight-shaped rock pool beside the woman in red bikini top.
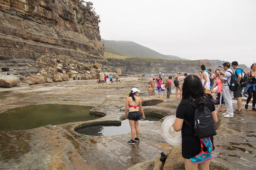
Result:
M154 121L158 121L162 119L164 116L158 114L150 114L147 115L145 113L145 118L142 119L140 115L139 124L143 123L154 123ZM125 119L121 121L121 124L97 124L97 125L89 125L84 126L75 131L79 134L90 135L90 136L112 136L112 135L121 135L128 134L131 131L129 120Z

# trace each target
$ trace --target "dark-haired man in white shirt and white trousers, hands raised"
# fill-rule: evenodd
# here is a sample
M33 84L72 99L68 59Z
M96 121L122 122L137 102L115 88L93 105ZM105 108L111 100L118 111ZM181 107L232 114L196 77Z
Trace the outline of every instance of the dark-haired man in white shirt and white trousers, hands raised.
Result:
M217 76L219 77L220 81L223 83L223 97L224 97L224 102L226 104L227 110L225 113L223 113L222 115L224 115L224 117L234 117L234 110L233 110L233 106L232 106L232 99L233 99L233 92L230 90L229 85L233 85L233 83L231 83L232 81L232 75L233 72L230 69L230 63L229 62L225 62L222 64L223 69L226 71L225 75L223 77L221 77L220 72L216 72Z

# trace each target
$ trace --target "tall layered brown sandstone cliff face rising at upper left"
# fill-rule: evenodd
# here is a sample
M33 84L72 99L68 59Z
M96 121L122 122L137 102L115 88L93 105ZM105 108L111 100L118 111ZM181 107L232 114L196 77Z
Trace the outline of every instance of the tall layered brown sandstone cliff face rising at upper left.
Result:
M0 1L0 66L35 64L40 55L106 63L98 17L78 0Z

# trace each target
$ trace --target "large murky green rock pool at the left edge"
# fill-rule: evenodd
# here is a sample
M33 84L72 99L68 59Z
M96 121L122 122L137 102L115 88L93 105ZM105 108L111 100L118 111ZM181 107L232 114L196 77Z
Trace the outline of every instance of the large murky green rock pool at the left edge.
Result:
M44 104L20 107L0 114L0 130L25 130L45 125L98 119L91 106Z

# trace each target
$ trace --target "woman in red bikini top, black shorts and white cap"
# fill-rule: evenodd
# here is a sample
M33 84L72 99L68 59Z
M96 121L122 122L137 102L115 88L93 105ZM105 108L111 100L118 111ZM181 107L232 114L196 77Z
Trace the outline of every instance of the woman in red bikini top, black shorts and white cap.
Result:
M137 88L132 88L129 97L126 98L125 118L127 118L127 111L129 109L128 119L131 126L131 140L127 142L128 144L135 144L135 141L139 142L139 109L142 113L142 118L145 119L141 99L137 97L139 92Z

